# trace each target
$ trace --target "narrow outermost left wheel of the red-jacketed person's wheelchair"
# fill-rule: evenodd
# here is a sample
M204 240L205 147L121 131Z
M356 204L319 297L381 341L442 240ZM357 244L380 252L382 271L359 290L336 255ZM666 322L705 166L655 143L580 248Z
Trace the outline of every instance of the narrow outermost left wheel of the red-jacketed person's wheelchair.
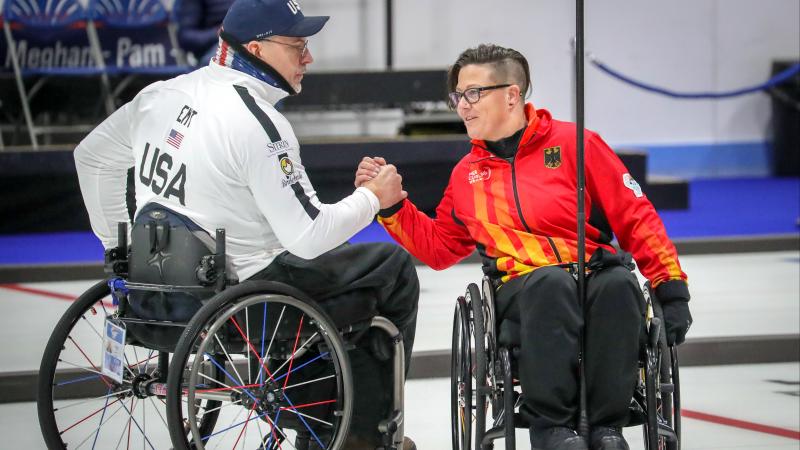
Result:
M450 356L450 429L453 450L472 449L472 345L469 306L458 297Z

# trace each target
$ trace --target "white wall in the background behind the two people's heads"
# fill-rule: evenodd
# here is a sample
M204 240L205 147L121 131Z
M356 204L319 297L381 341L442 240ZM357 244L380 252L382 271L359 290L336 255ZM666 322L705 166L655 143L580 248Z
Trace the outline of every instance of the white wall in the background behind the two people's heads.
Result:
M467 47L520 50L533 95L573 117L574 2L395 0L395 67L446 68ZM383 0L305 0L332 18L312 38L312 70L382 69ZM679 91L725 91L769 78L771 61L800 58L798 0L586 2L586 50L641 81ZM675 100L643 92L586 65L586 123L615 145L715 144L768 137L769 98Z

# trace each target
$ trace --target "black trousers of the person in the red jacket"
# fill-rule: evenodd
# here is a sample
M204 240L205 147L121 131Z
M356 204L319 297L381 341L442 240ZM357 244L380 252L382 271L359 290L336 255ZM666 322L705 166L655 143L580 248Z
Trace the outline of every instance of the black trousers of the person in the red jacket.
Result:
M592 426L624 426L637 381L644 299L618 265L586 280L587 410ZM575 428L584 324L577 282L558 267L513 279L497 292L498 317L519 323L521 414L534 428Z

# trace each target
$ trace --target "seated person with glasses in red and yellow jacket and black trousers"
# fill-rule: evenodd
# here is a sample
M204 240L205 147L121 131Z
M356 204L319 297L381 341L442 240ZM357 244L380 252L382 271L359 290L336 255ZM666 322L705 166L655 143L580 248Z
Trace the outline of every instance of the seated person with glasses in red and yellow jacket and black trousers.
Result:
M525 104L528 63L495 45L464 51L451 67L449 100L472 150L453 169L429 218L406 199L379 213L389 234L434 269L476 248L499 286L498 317L520 344L522 414L534 448L627 449L620 428L637 380L643 299L630 254L663 302L670 344L691 324L686 274L641 187L613 150L587 131L587 316L575 278L577 261L576 126ZM386 161L364 158L356 185ZM616 236L626 252L611 245ZM630 252L627 253L627 252ZM589 442L575 433L578 355L585 324ZM514 339L511 338L513 341Z

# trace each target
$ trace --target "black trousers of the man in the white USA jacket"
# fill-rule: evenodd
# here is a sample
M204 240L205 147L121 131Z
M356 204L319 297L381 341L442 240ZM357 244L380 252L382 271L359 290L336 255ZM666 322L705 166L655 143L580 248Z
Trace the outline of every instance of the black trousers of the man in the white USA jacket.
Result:
M333 311L337 322L343 315L345 321L352 316L353 322L375 313L386 317L403 334L408 369L417 325L419 279L411 257L400 246L344 244L311 260L284 252L250 279L280 281L296 287ZM352 310L349 300L365 295L374 300L375 311ZM336 311L337 305L345 311ZM369 343L369 339L362 339L349 352L355 388L351 434L377 445L378 423L390 413L392 360L377 358L369 350Z

